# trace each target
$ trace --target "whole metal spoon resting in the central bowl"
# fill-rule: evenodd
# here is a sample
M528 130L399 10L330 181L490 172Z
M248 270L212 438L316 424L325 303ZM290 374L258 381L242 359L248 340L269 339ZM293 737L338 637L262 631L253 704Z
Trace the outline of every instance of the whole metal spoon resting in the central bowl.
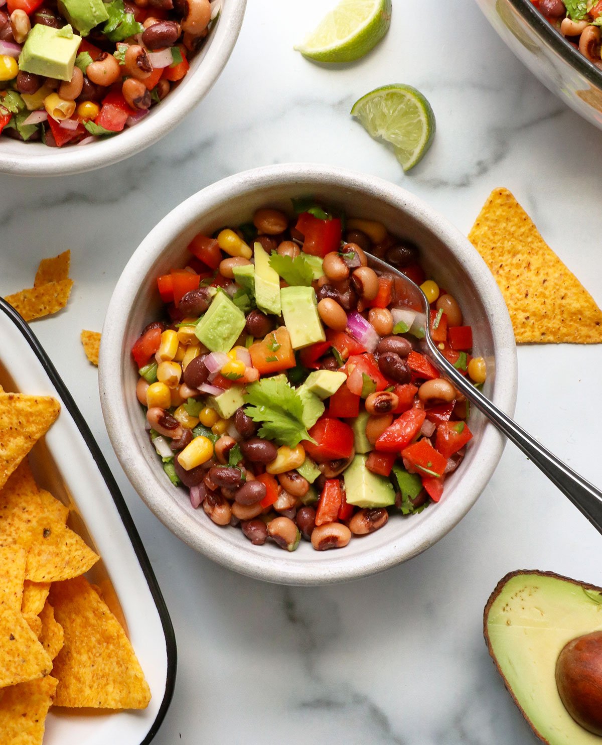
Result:
M464 396L467 397L470 403L481 410L487 416L487 419L493 422L499 431L505 434L508 440L511 440L517 448L522 450L529 460L532 460L553 484L556 484L560 491L571 500L574 506L586 516L589 522L598 530L598 533L602 533L602 492L596 489L593 484L590 484L589 481L586 481L579 474L575 473L569 466L566 466L565 463L558 460L547 448L540 445L522 427L519 427L516 422L513 422L510 416L506 416L503 411L499 410L489 399L485 398L480 390L475 388L467 378L464 378L464 375L458 373L458 370L444 358L444 355L441 354L436 343L432 340L429 323L426 322L426 319L429 318L429 301L426 299L423 291L409 277L394 267L391 267L390 264L377 259L376 256L367 256L368 266L374 269L377 274L386 273L394 277L397 295L406 297L408 308L424 314L424 342L426 343L426 352L432 364L441 373L444 373L446 378L449 378L449 381L461 393L464 393Z

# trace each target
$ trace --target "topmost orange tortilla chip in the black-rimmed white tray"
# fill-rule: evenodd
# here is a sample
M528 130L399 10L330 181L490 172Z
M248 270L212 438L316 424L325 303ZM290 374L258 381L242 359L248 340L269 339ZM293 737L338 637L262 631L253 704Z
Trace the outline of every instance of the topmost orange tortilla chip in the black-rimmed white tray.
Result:
M51 396L0 393L0 488L60 411Z

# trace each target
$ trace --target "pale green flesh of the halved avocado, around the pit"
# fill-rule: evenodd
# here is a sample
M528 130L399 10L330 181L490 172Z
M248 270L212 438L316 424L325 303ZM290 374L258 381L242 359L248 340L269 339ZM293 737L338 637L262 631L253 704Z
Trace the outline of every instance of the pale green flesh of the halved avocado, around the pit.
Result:
M602 593L551 572L513 572L498 583L485 607L490 655L525 719L549 745L602 743L566 711L555 678L565 644L602 630L602 604L586 591L593 597Z

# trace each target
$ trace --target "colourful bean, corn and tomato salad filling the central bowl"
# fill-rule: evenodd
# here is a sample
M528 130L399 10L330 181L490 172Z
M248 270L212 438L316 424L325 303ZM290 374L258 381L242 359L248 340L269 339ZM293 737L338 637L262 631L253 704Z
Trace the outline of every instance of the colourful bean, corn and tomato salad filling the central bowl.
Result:
M417 247L311 200L294 216L200 233L158 276L165 315L132 347L136 396L166 478L254 545L342 548L438 502L473 437L469 405L423 354L429 323L474 384L486 366ZM409 307L384 258L423 289Z

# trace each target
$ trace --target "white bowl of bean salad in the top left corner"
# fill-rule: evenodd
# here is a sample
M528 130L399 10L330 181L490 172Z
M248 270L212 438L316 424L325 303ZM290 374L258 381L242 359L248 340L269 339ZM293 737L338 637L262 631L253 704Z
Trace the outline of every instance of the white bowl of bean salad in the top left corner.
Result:
M6 0L0 171L89 171L153 144L211 88L246 0Z

